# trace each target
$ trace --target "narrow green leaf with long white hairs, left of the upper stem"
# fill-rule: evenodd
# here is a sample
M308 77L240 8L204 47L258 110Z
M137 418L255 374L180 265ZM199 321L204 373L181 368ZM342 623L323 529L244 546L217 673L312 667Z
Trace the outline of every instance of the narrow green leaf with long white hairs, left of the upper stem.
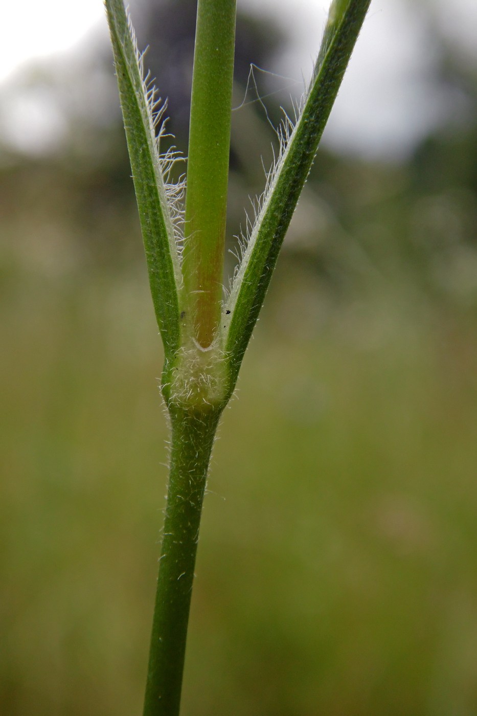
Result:
M180 321L178 287L181 274L174 221L175 208L168 194L167 173L174 157L160 156L155 137L155 90L143 78L142 61L128 23L122 0L105 0L115 58L127 148L133 170L134 188L155 316L164 343L165 359L173 359L179 347Z

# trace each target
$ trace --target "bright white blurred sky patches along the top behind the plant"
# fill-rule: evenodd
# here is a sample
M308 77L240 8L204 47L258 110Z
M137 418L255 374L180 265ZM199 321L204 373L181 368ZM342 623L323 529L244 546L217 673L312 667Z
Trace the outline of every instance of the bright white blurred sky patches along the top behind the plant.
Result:
M398 157L449 112L426 84L436 51L426 2L450 37L477 59L477 0L372 0L324 136L329 145ZM135 0L129 4L134 19ZM238 6L257 14L266 10L291 34L279 67L267 69L307 77L329 1L238 0ZM74 48L92 30L107 37L102 0L7 0L1 18L0 90L21 67Z

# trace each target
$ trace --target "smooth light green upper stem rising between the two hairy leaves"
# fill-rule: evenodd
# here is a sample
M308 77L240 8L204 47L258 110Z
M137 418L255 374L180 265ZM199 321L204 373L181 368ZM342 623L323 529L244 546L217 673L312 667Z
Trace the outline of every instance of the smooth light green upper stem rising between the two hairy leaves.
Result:
M184 304L208 347L220 318L236 0L198 0L189 129Z

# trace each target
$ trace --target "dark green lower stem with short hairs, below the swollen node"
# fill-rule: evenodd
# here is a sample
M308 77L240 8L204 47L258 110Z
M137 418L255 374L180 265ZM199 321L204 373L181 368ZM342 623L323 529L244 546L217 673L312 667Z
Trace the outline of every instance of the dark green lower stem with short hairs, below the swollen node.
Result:
M168 500L144 716L178 716L203 494L221 410L170 408Z

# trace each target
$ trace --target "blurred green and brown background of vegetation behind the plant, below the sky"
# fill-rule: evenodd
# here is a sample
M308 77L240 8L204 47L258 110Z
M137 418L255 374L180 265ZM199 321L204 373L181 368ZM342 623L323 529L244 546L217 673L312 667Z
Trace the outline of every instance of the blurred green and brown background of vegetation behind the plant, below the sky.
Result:
M425 12L463 109L399 158L319 150L213 454L184 716L477 715L477 63ZM181 147L194 14L134 15ZM231 245L284 42L241 14ZM0 713L131 716L168 433L110 51L0 91L66 127L0 146Z

